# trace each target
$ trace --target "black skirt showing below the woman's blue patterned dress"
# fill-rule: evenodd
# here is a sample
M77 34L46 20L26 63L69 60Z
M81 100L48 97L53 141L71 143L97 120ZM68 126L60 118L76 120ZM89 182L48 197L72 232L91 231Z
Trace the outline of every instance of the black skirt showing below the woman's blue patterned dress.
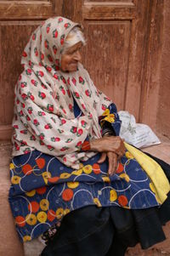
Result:
M167 179L170 179L170 166L151 157L161 165ZM54 240L48 243L41 255L124 256L127 247L133 247L138 242L146 249L165 240L161 225L165 225L168 220L170 193L159 208L80 208L64 217Z

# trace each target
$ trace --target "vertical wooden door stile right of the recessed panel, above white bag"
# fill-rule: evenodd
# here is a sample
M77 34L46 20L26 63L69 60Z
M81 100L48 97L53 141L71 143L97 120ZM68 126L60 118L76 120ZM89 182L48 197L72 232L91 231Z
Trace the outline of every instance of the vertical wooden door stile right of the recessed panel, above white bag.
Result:
M132 21L130 36L125 110L133 114L137 122L139 122L141 92L143 90L144 42L148 37L146 33L149 14L148 5L149 1L137 1L138 16Z

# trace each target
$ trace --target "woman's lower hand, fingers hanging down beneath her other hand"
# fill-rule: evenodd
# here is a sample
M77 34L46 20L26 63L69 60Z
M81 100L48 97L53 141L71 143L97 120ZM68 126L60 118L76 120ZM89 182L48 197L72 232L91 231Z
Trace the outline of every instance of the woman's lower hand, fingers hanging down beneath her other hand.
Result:
M108 174L113 175L116 172L118 156L114 152L104 152L101 154L98 163L105 162L106 157L108 157L109 162Z

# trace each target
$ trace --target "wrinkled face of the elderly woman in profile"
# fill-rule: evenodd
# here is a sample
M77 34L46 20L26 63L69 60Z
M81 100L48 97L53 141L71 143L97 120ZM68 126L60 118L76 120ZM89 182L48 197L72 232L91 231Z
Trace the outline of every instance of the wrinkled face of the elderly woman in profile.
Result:
M82 56L80 54L81 48L82 42L79 42L68 48L65 54L62 54L60 63L61 71L77 71L78 61L82 60Z

